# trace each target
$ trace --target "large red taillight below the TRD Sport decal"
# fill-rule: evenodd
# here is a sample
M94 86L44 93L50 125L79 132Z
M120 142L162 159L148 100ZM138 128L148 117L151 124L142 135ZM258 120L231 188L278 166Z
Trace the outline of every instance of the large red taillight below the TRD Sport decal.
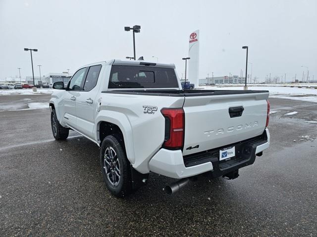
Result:
M165 118L165 137L163 147L171 150L183 149L185 113L183 108L162 109Z

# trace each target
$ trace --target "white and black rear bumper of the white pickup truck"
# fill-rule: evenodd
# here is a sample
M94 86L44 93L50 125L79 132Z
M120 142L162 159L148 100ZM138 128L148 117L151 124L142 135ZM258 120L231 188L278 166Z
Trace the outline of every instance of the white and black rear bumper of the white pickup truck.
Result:
M241 167L253 164L256 154L268 148L270 142L268 129L262 136L248 139L234 145L236 147L235 158L228 161L219 161L219 149L212 149L204 153L183 157L181 150L170 151L160 149L150 160L149 167L154 173L167 177L181 179L211 171L212 177L219 177Z

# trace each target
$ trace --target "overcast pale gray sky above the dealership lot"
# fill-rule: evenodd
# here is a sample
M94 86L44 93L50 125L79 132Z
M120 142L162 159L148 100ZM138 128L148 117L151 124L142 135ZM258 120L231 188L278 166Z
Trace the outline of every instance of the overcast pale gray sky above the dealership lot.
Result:
M137 57L174 63L179 76L188 36L200 30L200 78L240 76L249 45L253 76L295 74L301 65L317 79L317 0L0 0L0 80L32 75L30 53L42 75L71 73L84 64L133 56L132 33L141 25ZM250 65L251 66L251 65ZM248 69L248 71L251 67ZM305 69L306 74L306 69Z

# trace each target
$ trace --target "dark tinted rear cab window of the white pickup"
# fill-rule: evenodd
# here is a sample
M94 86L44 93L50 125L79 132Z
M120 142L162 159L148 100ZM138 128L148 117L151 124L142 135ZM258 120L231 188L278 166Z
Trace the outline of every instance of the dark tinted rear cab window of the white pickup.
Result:
M178 88L174 69L112 65L108 88Z

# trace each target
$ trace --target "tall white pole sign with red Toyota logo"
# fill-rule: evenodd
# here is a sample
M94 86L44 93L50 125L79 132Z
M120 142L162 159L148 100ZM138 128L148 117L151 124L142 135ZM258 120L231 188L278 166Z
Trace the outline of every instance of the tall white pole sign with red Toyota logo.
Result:
M189 50L188 57L188 79L191 83L198 87L199 76L199 30L192 32L189 35Z

